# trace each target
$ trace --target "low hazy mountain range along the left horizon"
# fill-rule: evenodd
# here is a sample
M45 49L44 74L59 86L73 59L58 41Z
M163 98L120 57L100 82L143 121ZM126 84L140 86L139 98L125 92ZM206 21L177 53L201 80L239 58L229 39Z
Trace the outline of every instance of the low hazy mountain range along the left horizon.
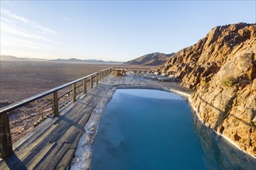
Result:
M53 62L85 62L85 63L123 63L116 61L103 61L101 59L34 59L34 58L18 58L16 56L0 56L2 61L53 61Z

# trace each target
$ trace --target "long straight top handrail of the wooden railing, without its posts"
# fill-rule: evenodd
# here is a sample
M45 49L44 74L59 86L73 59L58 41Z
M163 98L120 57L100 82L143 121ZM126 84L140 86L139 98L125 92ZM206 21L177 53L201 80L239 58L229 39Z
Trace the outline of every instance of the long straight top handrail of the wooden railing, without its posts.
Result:
M112 69L112 67L109 67L109 68L106 69L106 70L109 70L109 69ZM106 70L100 70L100 71L106 71ZM16 102L15 104L10 104L9 106L2 107L2 108L0 108L0 115L5 114L5 113L7 113L7 112L9 112L9 111L11 111L11 110L14 110L14 109L18 108L18 107L22 107L22 106L24 106L25 104L29 104L30 102L32 102L32 101L34 101L34 100L40 99L40 98L42 98L42 97L45 97L45 96L49 95L50 93L54 93L54 92L56 92L56 91L58 91L58 90L64 89L65 87L69 87L69 86L71 86L72 84L78 83L78 82L81 81L81 80L85 80L86 78L88 78L88 77L90 77L90 76L94 76L94 77L95 77L95 75L98 75L98 72L91 73L91 74L89 74L89 75L87 75L87 76L84 76L84 77L79 78L78 80L74 80L74 81L71 81L71 82L69 82L69 83L65 83L64 85L61 85L61 86L59 86L59 87L55 87L55 88L53 88L53 89L51 89L51 90L47 90L47 91L45 91L45 92L43 92L43 93L36 94L36 95L33 96L33 97L29 97L29 98L26 98L26 99L24 99L24 100L20 100L20 101Z

